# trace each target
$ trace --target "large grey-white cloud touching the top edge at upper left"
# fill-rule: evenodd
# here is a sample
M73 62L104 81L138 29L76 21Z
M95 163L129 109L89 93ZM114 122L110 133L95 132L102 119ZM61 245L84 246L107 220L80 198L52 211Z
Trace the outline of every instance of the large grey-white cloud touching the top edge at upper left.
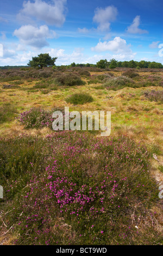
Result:
M23 2L23 9L17 15L17 18L22 21L29 21L29 17L44 21L49 25L60 27L65 22L66 0L53 0L52 3L47 3L42 0Z

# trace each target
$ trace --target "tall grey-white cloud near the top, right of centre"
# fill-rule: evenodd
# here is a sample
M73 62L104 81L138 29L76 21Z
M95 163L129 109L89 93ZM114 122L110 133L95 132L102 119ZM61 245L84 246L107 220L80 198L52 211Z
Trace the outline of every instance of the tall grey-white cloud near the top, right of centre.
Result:
M109 31L110 22L115 21L118 14L118 10L113 5L106 8L96 8L95 15L93 16L93 22L98 23L99 31Z

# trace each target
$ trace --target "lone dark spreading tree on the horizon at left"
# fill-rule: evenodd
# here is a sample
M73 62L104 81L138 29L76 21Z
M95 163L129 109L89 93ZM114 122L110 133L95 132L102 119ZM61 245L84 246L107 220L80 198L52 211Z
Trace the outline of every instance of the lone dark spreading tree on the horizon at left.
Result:
M33 68L36 68L37 66L39 68L43 68L43 66L54 66L54 62L57 59L57 57L52 58L49 56L48 53L40 53L37 57L32 57L32 60L29 60L28 66L32 66Z

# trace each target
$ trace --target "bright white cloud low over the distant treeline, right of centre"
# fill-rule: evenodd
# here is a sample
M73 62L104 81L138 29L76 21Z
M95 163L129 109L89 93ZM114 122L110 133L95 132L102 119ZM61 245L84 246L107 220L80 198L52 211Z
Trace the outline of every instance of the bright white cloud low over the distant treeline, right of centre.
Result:
M96 52L104 52L104 51L110 51L114 54L118 54L118 57L128 57L128 56L135 56L135 53L132 52L130 49L130 44L127 45L126 40L120 38L120 36L116 36L111 41L99 41L98 44L95 47L92 47L92 51Z

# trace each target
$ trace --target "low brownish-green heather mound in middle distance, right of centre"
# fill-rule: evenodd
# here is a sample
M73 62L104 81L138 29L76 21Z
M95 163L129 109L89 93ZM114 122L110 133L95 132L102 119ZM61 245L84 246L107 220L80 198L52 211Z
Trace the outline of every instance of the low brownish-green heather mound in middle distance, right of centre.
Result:
M126 76L110 78L104 86L109 90L123 89L124 87L136 87L134 80Z

